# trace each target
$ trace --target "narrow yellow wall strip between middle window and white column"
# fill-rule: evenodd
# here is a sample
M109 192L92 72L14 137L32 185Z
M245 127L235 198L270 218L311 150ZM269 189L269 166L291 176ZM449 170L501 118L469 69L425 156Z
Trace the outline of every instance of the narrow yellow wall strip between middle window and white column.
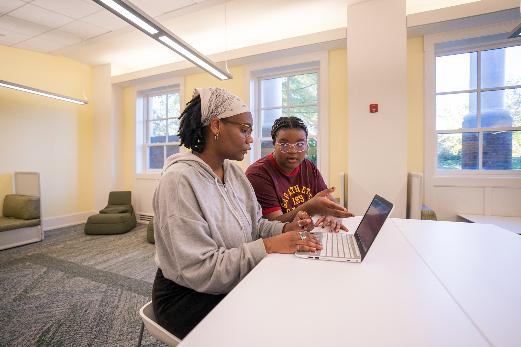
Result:
M329 52L329 186L340 198L340 173L348 172L348 50Z

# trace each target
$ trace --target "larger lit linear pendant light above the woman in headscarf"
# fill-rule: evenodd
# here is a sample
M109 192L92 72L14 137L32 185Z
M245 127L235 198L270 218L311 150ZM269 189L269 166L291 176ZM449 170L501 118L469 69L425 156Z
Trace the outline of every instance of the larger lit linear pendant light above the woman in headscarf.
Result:
M233 76L128 0L92 0L219 80Z

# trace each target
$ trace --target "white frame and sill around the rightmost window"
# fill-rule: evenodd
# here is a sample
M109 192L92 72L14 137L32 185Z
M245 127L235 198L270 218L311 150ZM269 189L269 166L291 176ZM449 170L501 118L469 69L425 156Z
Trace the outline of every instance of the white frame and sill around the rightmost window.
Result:
M521 172L518 170L438 170L437 156L437 130L436 130L436 56L435 44L467 38L482 37L494 34L509 32L515 21L498 24L483 25L482 27L456 30L438 34L424 36L424 177L425 195L424 203L431 207L435 203L434 187L483 187L485 188L485 214L490 215L490 195L491 187L519 187L519 177ZM454 54L460 52L473 52L481 47L498 47L501 45L511 46L521 40L501 40L497 42L487 42L483 44L473 44L462 47L454 47ZM485 50L485 49L483 49ZM442 53L442 52L438 52ZM452 54L452 52L451 52ZM439 54L442 55L442 54ZM505 130L502 128L502 130ZM443 133L451 131L441 131ZM465 132L455 130L455 133ZM480 153L480 156L482 153Z

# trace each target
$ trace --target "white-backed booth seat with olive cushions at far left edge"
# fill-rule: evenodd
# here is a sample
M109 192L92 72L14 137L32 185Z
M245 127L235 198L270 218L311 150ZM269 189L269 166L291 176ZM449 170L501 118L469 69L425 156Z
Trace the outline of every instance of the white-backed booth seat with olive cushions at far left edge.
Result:
M39 172L15 172L15 194L5 197L3 214L0 250L43 240Z

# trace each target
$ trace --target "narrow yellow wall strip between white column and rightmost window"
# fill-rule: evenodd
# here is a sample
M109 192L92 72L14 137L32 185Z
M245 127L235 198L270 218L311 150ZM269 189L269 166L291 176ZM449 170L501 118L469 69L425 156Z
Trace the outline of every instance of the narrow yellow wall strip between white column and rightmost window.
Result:
M407 172L424 173L423 37L407 40Z

